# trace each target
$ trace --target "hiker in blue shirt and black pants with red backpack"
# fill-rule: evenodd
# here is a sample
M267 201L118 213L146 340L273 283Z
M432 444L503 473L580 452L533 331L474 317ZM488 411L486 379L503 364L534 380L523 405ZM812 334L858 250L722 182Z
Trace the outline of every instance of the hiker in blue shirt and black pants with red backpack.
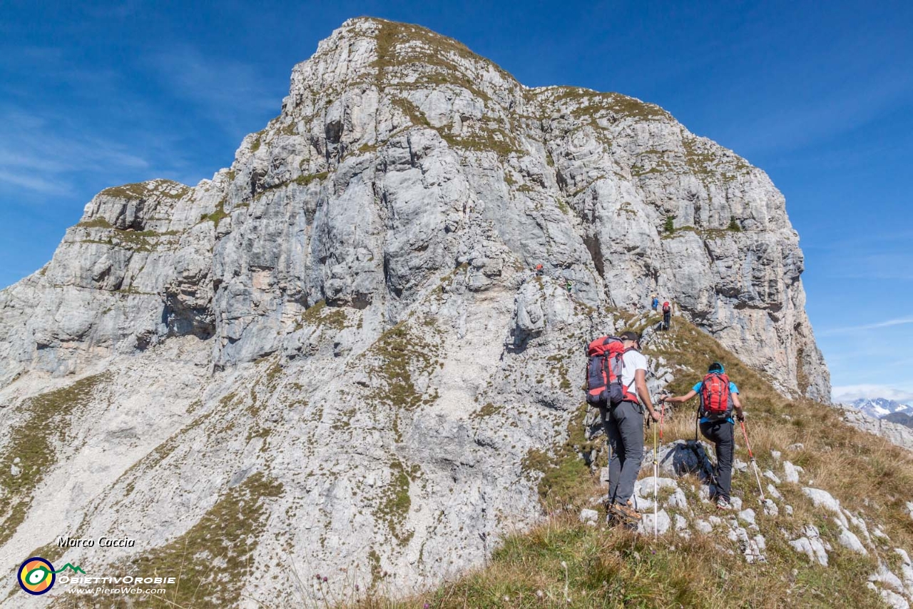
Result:
M707 376L683 396L666 398L664 401L681 403L700 395L700 433L714 443L717 451L716 486L717 508L729 509L729 493L732 490L732 454L735 452L733 427L735 411L739 421L745 420L739 400L739 388L726 376L723 365L713 362Z

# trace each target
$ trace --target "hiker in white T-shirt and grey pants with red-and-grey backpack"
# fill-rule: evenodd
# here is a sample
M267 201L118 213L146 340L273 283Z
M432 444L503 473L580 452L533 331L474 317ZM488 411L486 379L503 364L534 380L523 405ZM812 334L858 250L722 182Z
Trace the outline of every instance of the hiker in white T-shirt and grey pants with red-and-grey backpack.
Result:
M634 526L640 520L631 497L644 456L644 406L659 421L646 389L646 358L630 330L596 338L587 354L587 401L599 408L612 453L606 510L609 518Z

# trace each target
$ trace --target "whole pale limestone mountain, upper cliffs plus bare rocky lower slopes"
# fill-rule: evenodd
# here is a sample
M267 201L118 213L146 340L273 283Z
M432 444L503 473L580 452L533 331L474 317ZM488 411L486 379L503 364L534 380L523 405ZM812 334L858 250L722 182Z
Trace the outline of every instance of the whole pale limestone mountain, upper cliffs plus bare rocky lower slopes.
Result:
M540 514L524 457L566 433L610 309L666 295L784 393L828 401L802 272L768 176L661 108L530 89L424 28L347 21L230 169L102 191L0 292L0 396L24 406L4 454L34 396L107 370L91 424L66 422L85 443L48 451L110 463L60 486L53 517L28 506L62 473L7 486L0 556L37 526L167 556L256 490L245 560L436 581Z

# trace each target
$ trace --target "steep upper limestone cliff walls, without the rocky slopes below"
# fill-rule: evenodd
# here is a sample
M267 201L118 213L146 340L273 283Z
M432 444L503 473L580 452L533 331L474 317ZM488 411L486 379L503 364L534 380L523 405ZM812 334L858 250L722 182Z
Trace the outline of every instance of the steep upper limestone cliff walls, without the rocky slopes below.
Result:
M230 170L94 198L50 265L3 293L0 379L185 334L214 337L220 367L288 355L308 306L370 307L380 328L464 262L476 291L542 263L586 305L666 295L782 390L827 400L798 236L761 170L654 105L529 89L373 19L294 69Z

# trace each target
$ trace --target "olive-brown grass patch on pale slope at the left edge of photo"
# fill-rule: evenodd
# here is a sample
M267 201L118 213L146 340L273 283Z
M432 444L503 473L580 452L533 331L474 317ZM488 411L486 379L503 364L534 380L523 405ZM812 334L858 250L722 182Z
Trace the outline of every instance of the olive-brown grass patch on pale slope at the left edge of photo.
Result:
M57 464L58 446L67 441L73 413L88 405L109 379L107 374L79 379L68 387L29 398L20 406L25 416L9 430L0 454L0 545L16 533L35 490ZM14 465L20 470L17 475L13 475Z

